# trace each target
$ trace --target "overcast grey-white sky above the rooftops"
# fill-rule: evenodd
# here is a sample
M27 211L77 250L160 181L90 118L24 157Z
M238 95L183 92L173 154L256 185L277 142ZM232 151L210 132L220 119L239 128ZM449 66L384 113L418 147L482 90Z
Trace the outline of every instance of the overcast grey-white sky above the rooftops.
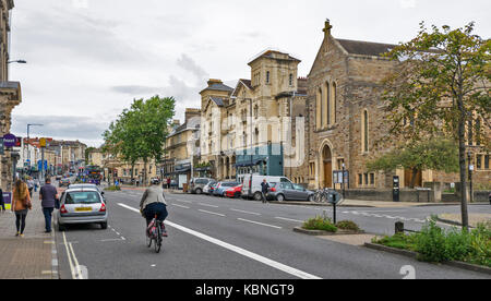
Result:
M323 38L397 44L421 21L462 27L476 22L489 38L486 0L15 0L10 80L23 103L12 132L81 140L98 146L110 121L134 98L173 96L177 116L200 107L209 77L249 79L249 60L266 48L302 60L307 76Z

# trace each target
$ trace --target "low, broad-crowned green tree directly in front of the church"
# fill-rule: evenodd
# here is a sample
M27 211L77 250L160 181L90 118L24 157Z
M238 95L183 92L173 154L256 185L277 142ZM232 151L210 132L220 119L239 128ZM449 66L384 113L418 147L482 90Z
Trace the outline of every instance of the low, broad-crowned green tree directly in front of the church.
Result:
M367 162L369 171L392 171L399 167L412 172L410 188L415 188L416 174L426 169L458 172L458 147L445 139L408 143Z

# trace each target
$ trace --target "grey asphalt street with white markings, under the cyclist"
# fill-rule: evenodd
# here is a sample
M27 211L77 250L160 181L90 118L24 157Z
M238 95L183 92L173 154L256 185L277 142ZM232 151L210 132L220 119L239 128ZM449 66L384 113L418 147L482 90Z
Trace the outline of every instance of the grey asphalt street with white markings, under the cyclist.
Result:
M416 278L489 278L486 274L433 265L363 246L292 231L323 208L168 194L169 238L156 254L145 245L139 213L143 191L106 192L109 227L71 226L57 232L60 278L89 279L402 279L410 265ZM393 233L394 222L418 230L426 217L457 206L339 208L338 218L369 233ZM489 206L469 206L490 213ZM327 210L331 215L331 208ZM76 265L80 265L80 275Z

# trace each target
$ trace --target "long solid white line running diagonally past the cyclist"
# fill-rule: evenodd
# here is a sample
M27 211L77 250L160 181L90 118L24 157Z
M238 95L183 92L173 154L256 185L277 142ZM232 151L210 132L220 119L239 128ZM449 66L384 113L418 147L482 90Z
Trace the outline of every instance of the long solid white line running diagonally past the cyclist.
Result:
M121 207L124 207L124 208L127 208L127 209L130 209L130 210L132 210L132 212L135 212L135 213L140 214L140 210L139 210L139 209L132 208L132 207L127 206L127 205L121 204L121 203L119 203L118 205L120 205ZM197 231L191 230L191 229L189 229L189 228L182 227L182 226L180 226L180 225L173 224L173 222L171 222L171 221L168 221L168 220L167 220L167 221L166 221L166 225L168 225L168 226L170 226L170 227L173 227L173 228L176 228L176 229L178 229L178 230L181 230L181 231L183 231L183 232L185 232L185 233L189 233L189 234L191 234L191 236L194 236L194 237L197 237L197 238L200 238L200 239L203 239L203 240L205 240L205 241L208 241L208 242L211 242L211 243L214 243L214 244L216 244L216 245L219 245L219 246L221 246L221 248L225 248L225 249L227 249L227 250L229 250L229 251L236 252L236 253L238 253L238 254L240 254L240 255L243 255L243 256L246 256L246 257L249 257L249 258L251 258L251 260L258 261L258 262L260 262L260 263L263 263L263 264L265 264L265 265L268 265L268 266L271 266L271 267L274 267L274 268L276 268L276 269L279 269L279 270L282 270L282 272L285 272L285 273L287 273L287 274L290 274L290 275L292 275L292 276L299 277L299 278L301 278L301 279L321 279L320 277L318 277L318 276L315 276L315 275L308 274L308 273L306 273L306 272L302 272L302 270L300 270L300 269L294 268L294 267L291 267L291 266L284 265L284 264L282 264L282 263L275 262L275 261L273 261L273 260L270 260L270 258L266 258L266 257L261 256L261 255L259 255L259 254L255 254L255 253L252 253L252 252L250 252L250 251L247 251L247 250L244 250L244 249L242 249L242 248L239 248L239 246L236 246L236 245L233 245L233 244L230 244L230 243L220 241L220 240L218 240L218 239L208 237L208 236L206 236L206 234L203 234L203 233L200 233L200 232L197 232Z

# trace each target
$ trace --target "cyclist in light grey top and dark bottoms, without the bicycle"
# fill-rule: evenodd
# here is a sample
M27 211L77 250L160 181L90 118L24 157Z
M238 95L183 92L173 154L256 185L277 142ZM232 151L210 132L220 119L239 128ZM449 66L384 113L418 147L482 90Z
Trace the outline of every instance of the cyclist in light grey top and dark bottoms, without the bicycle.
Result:
M164 237L167 237L164 220L169 214L167 213L164 190L159 182L152 183L143 193L142 201L140 201L140 213L142 213L142 216L146 219L147 228L154 217L157 216L157 220L161 222L161 233Z

